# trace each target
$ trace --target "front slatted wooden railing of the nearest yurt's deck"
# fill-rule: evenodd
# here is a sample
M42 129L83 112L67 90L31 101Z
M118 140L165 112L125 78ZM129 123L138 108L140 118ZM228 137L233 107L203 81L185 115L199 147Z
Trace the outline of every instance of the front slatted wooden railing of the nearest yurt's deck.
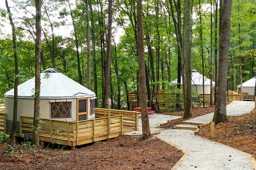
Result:
M123 132L123 115L110 117L110 130L108 130L108 118L95 118L79 122L56 121L41 119L41 141L50 143L78 146L94 141L118 137ZM32 136L32 117L21 116L19 122L19 135L23 133ZM108 131L110 133L108 133Z

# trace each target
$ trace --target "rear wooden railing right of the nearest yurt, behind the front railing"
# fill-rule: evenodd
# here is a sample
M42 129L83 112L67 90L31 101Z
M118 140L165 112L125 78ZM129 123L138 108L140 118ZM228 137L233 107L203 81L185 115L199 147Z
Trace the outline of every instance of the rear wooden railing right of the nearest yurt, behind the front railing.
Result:
M108 109L95 108L95 117L106 117ZM123 115L124 132L138 130L138 115L140 112L110 109L110 115Z

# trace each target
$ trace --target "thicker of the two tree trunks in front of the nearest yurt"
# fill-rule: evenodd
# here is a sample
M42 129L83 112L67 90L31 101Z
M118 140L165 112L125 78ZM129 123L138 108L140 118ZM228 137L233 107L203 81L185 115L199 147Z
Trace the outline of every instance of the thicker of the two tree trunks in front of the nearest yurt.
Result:
M40 130L40 85L41 85L41 0L36 0L36 61L35 61L35 104L33 115L33 136L32 143L39 144Z

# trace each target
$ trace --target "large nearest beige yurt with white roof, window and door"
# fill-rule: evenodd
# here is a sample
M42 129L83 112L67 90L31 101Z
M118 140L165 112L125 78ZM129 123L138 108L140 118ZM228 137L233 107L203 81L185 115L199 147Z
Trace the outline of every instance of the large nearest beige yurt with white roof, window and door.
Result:
M18 86L18 112L20 116L33 117L35 77ZM40 117L58 121L83 121L95 118L93 91L73 81L54 68L41 73ZM12 127L14 89L4 94L7 128ZM19 125L17 125L18 130Z

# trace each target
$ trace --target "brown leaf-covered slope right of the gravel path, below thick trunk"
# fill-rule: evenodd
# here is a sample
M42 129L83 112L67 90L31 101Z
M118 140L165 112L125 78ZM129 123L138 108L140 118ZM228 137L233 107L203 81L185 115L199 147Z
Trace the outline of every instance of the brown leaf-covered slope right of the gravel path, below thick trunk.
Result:
M198 135L210 139L210 125L200 127ZM215 126L211 139L252 154L256 158L256 109L242 116L228 116L228 121Z

